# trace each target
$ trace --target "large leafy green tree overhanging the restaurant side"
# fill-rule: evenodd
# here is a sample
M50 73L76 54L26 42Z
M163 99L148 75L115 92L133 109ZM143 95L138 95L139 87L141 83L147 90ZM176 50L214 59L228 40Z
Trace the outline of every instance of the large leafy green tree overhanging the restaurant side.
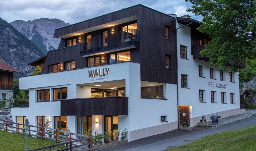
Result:
M254 0L185 0L188 12L202 16L198 30L212 38L200 54L210 57L210 65L226 70L227 64L239 70L239 62L256 57L256 1Z

